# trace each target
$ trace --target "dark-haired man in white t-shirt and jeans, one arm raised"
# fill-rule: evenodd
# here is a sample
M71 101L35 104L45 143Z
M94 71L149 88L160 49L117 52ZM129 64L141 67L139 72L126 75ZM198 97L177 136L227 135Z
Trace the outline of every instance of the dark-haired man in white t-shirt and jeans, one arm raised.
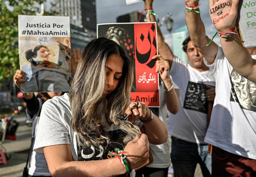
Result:
M146 0L145 9L151 10L152 4L153 0ZM148 18L155 21L152 14L148 14ZM211 154L207 153L204 136L207 130L208 101L213 102L215 96L215 89L211 87L215 86L213 75L189 38L183 43L189 65L173 55L159 28L157 43L158 52L171 66L172 80L180 89L179 111L176 115L171 114L168 120L168 131L172 135L174 176L194 176L197 163L204 176L211 176Z

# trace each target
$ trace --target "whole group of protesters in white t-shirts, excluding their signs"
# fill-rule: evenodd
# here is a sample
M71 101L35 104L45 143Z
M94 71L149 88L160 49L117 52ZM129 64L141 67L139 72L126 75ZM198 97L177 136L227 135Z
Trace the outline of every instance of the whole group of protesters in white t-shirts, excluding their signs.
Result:
M209 0L209 6L226 2ZM256 47L244 48L237 35L239 0L210 13L212 21L219 11L229 14L213 23L221 47L205 34L199 0L184 3L189 64L172 53L157 27L159 54L152 59L161 78L159 116L130 102L132 62L106 38L75 55L69 93L25 94L36 134L30 176L160 177L171 162L174 177L194 176L197 164L203 176L256 176ZM153 0L145 0L144 9L153 11ZM154 13L146 18L156 22ZM18 87L25 81L21 70L14 81ZM204 88L198 110L185 106L190 88Z

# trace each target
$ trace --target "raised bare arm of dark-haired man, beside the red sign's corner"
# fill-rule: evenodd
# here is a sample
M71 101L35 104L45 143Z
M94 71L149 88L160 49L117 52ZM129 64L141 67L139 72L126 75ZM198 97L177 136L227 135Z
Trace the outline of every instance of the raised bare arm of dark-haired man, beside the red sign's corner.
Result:
M152 9L153 10L153 0L145 0L144 3L144 8L145 9ZM147 16L147 21L148 22L156 22L156 18L154 15L149 14ZM157 25L157 46L158 46L158 53L161 54L161 56L168 61L170 67L172 65L172 60L173 60L173 53L168 44L164 42L164 37L161 33L160 28Z

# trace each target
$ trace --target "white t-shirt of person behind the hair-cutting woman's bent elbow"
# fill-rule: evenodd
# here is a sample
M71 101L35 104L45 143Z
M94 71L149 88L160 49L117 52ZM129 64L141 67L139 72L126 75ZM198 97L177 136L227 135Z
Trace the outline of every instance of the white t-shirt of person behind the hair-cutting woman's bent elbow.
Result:
M174 85L173 85L174 86ZM158 117L164 122L164 124L167 124L166 121L166 114L167 114L167 106L165 102L165 96L164 96L164 83L161 82L159 86L159 97L161 101L161 107L160 108L154 108L154 110L158 111ZM152 145L149 146L150 151L153 155L153 162L147 167L151 168L167 168L171 165L170 161L170 149L169 149L169 141L161 144L161 145Z

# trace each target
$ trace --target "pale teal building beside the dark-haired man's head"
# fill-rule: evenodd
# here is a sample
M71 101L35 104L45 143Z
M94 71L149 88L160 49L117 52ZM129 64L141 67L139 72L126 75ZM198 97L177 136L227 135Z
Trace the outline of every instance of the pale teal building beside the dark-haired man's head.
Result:
M177 28L172 33L172 52L174 55L180 58L184 63L188 64L188 58L186 53L182 50L183 41L189 36L187 26L184 25Z

